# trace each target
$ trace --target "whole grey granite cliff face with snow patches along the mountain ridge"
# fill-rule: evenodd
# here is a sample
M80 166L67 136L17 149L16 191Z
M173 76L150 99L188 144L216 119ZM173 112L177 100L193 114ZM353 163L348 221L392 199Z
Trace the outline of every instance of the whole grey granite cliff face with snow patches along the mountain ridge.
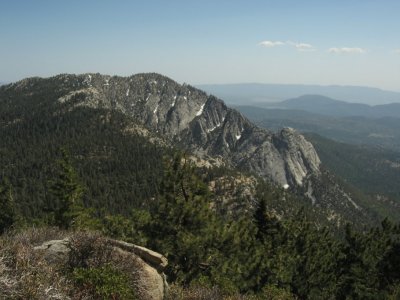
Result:
M118 110L200 157L244 167L285 188L301 186L319 172L314 147L293 129L261 129L216 97L162 75L58 75L25 79L6 88L32 92L46 81L57 86L56 100L64 105Z

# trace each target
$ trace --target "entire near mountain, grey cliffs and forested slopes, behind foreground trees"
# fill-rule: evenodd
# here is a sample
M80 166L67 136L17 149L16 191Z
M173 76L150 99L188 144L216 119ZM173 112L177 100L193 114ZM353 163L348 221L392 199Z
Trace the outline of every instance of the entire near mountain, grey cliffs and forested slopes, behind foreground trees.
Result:
M220 188L228 183L247 194L245 200L241 192L230 195L228 204L218 204L221 211L249 210L256 187L270 185L289 188L270 204L279 216L307 206L319 224L351 222L360 228L385 216L343 190L333 176L322 176L313 146L297 132L257 128L221 100L159 74L31 78L0 92L3 172L24 217L41 217L57 205L47 190L62 148L87 187L85 205L126 213L157 195L162 158L177 150L172 145L212 167L199 172L214 191L232 194ZM235 166L254 180L224 174Z

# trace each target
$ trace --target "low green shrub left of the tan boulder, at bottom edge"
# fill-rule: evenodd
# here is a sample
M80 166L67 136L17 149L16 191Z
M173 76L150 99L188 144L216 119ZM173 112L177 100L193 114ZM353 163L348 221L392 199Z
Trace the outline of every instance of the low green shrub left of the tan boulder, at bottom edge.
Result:
M72 277L82 288L93 290L100 299L136 299L129 277L110 265L76 268Z

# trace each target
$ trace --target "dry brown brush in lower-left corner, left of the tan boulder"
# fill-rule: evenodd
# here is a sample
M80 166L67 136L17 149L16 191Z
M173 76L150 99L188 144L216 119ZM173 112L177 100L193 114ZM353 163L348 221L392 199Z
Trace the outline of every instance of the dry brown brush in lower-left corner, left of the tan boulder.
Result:
M68 259L58 265L33 249L45 241L66 237L71 251ZM93 288L77 285L71 274L74 268L106 264L127 274L132 288L136 288L135 261L129 256L111 255L107 239L97 233L53 228L8 232L0 236L0 299L99 299Z

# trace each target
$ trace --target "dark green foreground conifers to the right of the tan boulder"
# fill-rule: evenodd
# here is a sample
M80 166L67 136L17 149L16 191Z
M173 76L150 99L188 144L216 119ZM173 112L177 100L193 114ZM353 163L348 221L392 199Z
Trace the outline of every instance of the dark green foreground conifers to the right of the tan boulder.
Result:
M201 286L195 290L213 293L218 287L223 297L251 292L257 299L368 299L396 293L398 226L385 220L381 229L367 233L348 229L341 241L304 210L280 220L269 207L289 195L266 184L258 190L252 214L215 214L213 195L177 154L165 160L149 212L134 210L129 219L107 216L104 224L112 236L132 241L139 236L165 254L169 280L191 287L188 291Z

